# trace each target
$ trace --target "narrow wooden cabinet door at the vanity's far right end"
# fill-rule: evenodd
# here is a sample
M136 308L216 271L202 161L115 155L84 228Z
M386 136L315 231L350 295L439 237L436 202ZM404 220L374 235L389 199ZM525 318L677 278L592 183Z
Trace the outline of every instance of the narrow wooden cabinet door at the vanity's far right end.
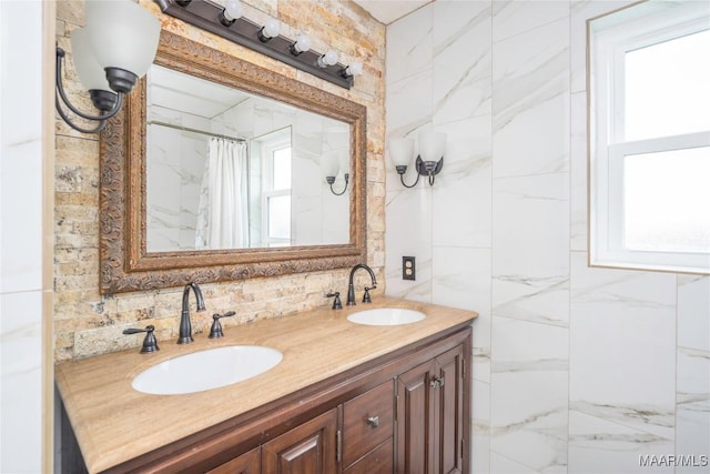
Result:
M464 396L468 391L464 385L464 347L462 345L436 357L436 375L430 400L436 424L436 445L434 450L434 472L454 474L464 472L463 433ZM468 471L468 470L466 470Z

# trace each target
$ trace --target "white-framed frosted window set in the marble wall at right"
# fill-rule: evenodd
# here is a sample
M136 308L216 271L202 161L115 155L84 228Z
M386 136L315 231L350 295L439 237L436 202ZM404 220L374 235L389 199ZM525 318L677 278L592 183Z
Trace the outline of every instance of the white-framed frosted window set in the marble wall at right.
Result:
M710 273L710 9L590 20L592 265Z

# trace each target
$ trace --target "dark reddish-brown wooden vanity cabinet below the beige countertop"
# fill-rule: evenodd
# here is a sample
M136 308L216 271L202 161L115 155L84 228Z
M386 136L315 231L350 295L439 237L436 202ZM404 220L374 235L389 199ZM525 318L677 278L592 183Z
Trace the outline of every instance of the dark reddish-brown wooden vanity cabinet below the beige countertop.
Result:
M105 472L467 474L470 339L462 324Z

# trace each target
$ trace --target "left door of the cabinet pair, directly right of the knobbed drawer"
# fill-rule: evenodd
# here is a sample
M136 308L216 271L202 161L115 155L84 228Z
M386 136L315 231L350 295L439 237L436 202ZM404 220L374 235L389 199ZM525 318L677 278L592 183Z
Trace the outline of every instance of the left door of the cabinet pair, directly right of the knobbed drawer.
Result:
M435 362L418 365L397 377L397 473L433 472L434 411L429 381Z

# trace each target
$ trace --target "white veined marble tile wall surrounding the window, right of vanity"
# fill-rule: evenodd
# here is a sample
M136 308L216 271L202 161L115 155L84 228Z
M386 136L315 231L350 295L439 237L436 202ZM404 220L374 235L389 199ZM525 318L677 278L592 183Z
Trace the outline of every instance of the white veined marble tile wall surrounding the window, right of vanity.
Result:
M708 470L639 456L710 454L710 278L587 266L586 21L629 3L437 0L387 28L387 137L447 133L433 188L386 164L387 292L480 313L474 473Z

